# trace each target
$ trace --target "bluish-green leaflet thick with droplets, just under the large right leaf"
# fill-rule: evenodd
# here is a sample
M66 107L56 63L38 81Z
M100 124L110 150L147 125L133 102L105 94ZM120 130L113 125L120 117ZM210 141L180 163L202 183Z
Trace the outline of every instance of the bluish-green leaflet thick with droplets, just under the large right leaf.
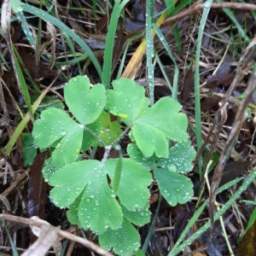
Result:
M170 165L176 166L177 172L185 173L193 169L193 160L195 160L195 148L190 145L189 140L177 143L170 148L169 157L161 159L159 166L167 168Z

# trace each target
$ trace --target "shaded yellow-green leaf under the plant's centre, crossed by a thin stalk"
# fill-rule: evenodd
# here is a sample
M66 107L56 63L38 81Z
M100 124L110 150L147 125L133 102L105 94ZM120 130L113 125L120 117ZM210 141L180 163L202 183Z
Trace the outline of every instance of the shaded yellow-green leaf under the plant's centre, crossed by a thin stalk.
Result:
M104 111L94 123L87 125L87 127L101 138L104 145L113 143L122 133L121 125L117 121L111 122L110 114ZM82 151L90 147L104 146L101 142L98 142L90 131L84 131Z

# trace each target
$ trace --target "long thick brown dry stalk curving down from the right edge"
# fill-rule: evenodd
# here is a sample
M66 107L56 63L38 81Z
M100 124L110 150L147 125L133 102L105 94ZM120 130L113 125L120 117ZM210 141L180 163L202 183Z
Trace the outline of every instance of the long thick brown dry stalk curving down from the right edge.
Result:
M255 41L255 39L253 40ZM255 42L254 42L255 43ZM212 183L211 183L211 192L210 192L210 199L209 199L209 215L211 219L211 225L213 227L213 209L214 209L214 203L216 200L216 195L217 195L217 189L218 189L218 184L221 181L221 177L223 175L224 171L224 166L226 164L226 161L228 160L230 156L230 152L236 143L237 137L239 135L239 132L241 130L241 125L243 122L243 117L246 114L247 111L247 106L249 102L251 101L254 90L256 90L256 71L253 73L253 77L250 79L246 94L241 102L241 106L236 114L236 119L233 125L233 129L230 132L230 136L228 137L226 146L224 148L223 153L220 155L218 165L216 166L214 172L213 172L213 177L212 177Z

